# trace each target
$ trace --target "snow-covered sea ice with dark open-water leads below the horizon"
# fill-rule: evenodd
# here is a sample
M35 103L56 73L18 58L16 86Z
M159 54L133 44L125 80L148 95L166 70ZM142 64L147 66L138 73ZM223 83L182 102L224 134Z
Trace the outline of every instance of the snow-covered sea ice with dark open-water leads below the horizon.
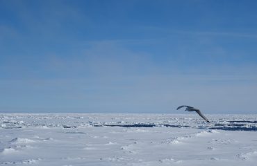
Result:
M0 165L256 165L257 115L0 114Z

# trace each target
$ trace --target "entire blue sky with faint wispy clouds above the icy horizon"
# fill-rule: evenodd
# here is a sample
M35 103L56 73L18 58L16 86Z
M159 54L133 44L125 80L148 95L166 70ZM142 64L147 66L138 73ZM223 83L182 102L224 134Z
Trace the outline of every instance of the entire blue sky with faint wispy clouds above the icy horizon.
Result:
M0 112L257 113L256 8L0 0Z

